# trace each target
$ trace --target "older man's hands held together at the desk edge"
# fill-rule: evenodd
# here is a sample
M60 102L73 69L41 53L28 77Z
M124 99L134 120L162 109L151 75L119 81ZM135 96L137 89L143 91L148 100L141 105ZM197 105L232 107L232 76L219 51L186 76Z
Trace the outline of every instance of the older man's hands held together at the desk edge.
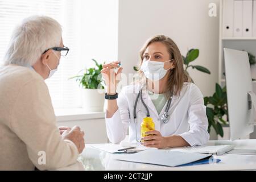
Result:
M84 131L81 131L79 126L74 126L71 130L65 130L61 136L63 139L68 139L75 143L79 154L84 150Z

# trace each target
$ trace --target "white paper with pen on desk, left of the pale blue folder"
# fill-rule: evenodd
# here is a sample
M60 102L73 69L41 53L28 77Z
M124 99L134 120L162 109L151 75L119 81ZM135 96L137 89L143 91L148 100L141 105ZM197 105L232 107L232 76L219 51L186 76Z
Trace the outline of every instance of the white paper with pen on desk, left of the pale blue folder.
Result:
M134 148L134 151L146 150L146 147L141 146L141 145L134 144L133 146L136 147L136 148ZM119 149L126 148L126 147L119 146L119 144L112 144L112 143L93 144L92 147L97 148L102 151L105 151L105 152L112 153L112 154L117 153Z

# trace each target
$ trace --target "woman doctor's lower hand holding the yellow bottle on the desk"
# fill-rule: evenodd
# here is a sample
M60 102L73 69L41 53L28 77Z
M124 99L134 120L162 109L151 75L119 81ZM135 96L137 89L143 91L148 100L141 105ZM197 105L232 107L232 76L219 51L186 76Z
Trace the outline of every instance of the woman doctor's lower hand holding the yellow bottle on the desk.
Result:
M149 135L147 137L143 137L141 140L143 141L143 146L146 147L155 147L155 148L166 148L168 139L163 137L159 131L152 130L147 131L145 134Z

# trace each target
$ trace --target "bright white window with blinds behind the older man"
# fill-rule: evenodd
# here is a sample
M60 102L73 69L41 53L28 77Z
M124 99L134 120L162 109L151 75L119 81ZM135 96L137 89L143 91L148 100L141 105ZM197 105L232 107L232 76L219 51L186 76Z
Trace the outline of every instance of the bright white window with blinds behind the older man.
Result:
M55 109L82 106L82 90L75 76L94 58L100 63L117 60L118 0L0 0L0 61L11 33L22 19L46 15L63 26L63 43L70 48L58 71L46 80Z

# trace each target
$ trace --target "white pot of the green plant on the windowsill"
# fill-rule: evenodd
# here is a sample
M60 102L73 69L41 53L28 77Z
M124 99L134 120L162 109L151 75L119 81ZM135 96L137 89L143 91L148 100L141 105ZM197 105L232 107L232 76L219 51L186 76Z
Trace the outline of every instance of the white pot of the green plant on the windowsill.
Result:
M105 90L104 89L83 89L82 107L90 112L104 111Z

